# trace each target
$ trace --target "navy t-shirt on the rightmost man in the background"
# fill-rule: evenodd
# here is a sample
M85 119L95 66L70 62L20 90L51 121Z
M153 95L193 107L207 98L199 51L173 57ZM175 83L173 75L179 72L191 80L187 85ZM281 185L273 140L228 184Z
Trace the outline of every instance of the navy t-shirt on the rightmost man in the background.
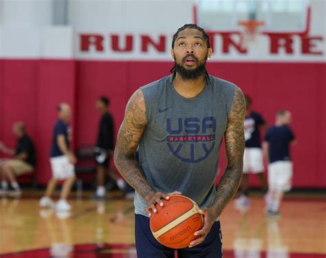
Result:
M294 139L294 134L287 125L270 127L265 135L265 141L269 143L270 163L291 160L290 142Z

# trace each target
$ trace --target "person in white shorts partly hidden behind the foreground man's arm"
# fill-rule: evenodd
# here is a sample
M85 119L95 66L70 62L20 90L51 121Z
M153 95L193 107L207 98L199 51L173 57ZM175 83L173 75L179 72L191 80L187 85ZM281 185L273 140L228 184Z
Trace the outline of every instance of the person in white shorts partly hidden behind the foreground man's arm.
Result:
M243 175L241 180L241 196L235 200L235 205L239 208L250 205L248 187L249 173L258 176L263 193L267 193L267 182L264 175L263 151L261 149L261 129L266 129L266 123L261 114L251 110L252 100L245 96L246 118L244 120L244 133L246 148L243 154Z

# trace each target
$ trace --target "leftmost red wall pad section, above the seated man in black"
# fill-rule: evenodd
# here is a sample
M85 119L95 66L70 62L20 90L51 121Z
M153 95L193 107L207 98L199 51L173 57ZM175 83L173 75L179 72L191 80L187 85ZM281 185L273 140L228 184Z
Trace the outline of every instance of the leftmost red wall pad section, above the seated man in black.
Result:
M1 63L1 140L14 149L14 122L24 122L30 136L36 136L37 61L5 60Z

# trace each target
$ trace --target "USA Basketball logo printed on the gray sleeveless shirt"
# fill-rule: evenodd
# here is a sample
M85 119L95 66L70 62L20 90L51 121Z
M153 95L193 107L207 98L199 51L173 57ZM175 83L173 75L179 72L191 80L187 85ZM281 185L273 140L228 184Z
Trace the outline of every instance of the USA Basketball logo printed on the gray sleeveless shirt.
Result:
M171 153L183 162L206 160L215 147L216 119L166 118L166 143Z

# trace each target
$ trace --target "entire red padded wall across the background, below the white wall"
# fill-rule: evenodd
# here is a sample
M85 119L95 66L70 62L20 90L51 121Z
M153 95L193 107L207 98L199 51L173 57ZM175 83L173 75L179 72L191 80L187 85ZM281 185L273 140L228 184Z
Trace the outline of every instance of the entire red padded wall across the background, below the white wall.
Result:
M45 184L51 175L48 153L58 103L72 105L74 146L94 144L98 96L111 99L117 133L135 89L169 74L171 67L172 62L0 60L0 140L13 147L12 122L26 122L38 151L38 182ZM326 186L326 64L209 63L208 72L252 96L253 109L263 114L268 125L278 109L292 111L298 139L293 148L294 186ZM224 169L224 153L220 164ZM257 180L252 178L252 184Z

